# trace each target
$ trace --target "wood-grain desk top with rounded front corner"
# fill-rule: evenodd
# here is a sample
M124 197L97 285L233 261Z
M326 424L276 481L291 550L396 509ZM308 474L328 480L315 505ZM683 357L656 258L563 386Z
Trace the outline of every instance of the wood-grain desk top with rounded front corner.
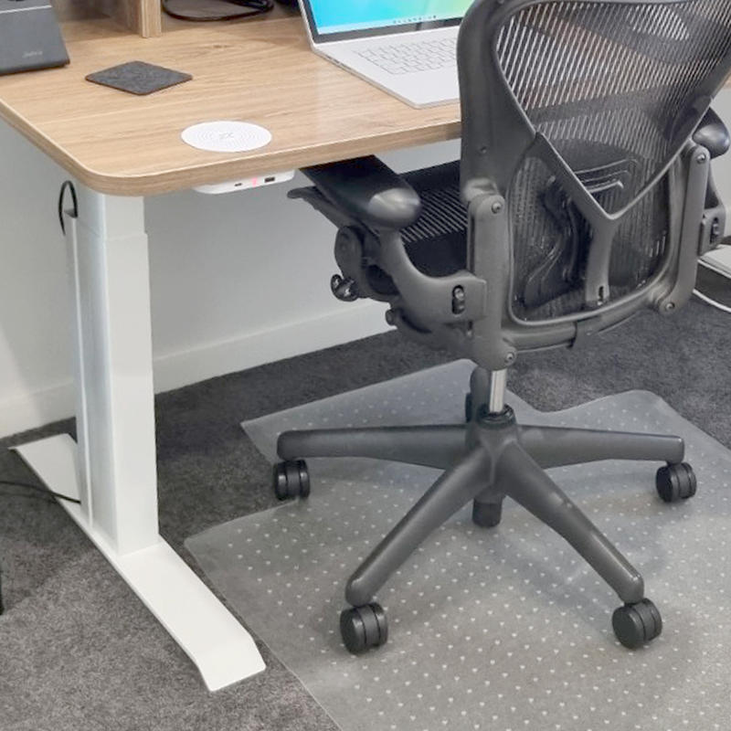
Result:
M108 19L63 31L70 65L0 77L0 117L101 193L154 195L460 134L458 104L411 109L313 54L297 16L166 22L162 37L146 39ZM84 79L130 60L194 79L143 97ZM185 127L211 120L256 122L273 140L247 154L182 142Z

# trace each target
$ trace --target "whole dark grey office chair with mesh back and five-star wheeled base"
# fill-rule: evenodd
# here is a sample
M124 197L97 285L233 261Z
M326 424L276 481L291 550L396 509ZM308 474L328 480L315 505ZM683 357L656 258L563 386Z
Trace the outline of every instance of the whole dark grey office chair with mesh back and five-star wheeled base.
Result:
M500 523L513 498L563 536L622 605L629 648L662 630L640 573L546 468L665 462L668 503L696 481L673 436L523 426L504 403L521 352L578 347L643 308L675 312L724 208L710 160L729 136L709 105L731 71L727 0L476 0L458 43L461 161L399 176L375 157L305 170L295 190L338 227L331 282L388 302L387 322L476 368L465 423L287 431L274 487L306 497L305 457L370 457L444 470L350 578L351 652L387 641L376 592L452 514Z

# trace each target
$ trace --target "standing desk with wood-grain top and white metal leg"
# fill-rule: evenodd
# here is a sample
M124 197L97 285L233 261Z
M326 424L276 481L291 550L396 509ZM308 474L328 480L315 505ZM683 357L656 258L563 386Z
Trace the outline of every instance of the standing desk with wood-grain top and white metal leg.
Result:
M69 22L63 33L70 66L0 78L0 117L65 168L78 194L63 215L77 440L16 450L49 488L79 497L66 510L216 690L264 664L159 535L144 198L454 138L459 107L410 109L316 57L302 21L281 12L225 25L166 22L153 39L109 19ZM135 59L194 80L147 97L84 80ZM259 123L273 140L249 154L181 141L185 127L218 119Z

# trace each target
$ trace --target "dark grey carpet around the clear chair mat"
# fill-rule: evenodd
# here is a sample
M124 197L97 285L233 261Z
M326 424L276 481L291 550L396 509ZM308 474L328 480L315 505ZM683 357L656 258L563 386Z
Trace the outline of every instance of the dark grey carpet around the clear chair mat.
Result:
M673 318L641 315L581 350L524 356L510 387L539 409L647 389L731 446L729 359L731 319L692 302ZM242 419L444 361L387 334L157 397L165 538L188 559L187 536L274 503L263 487L269 465L242 439ZM5 448L67 429L0 442L0 477L32 480ZM0 498L0 563L2 731L334 729L264 647L265 673L207 694L185 654L56 505ZM578 728L586 731L570 731Z

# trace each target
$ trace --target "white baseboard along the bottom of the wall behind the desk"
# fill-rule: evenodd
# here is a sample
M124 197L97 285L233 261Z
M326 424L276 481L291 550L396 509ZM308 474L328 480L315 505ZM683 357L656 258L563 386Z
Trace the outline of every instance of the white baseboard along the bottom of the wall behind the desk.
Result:
M154 357L155 393L216 376L272 363L293 355L383 333L385 305L363 302L322 317L246 333L224 343L210 343L180 353ZM0 403L0 437L36 429L74 413L72 384L66 381L20 393Z

